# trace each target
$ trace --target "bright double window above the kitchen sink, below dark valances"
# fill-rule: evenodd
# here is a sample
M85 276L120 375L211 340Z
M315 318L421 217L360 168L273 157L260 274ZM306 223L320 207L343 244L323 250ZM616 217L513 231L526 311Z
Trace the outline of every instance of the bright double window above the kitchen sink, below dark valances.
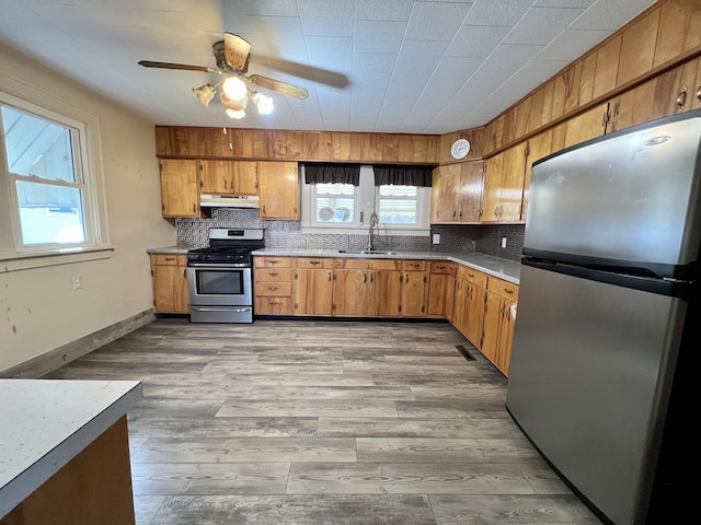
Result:
M381 230L398 235L427 235L430 188L418 186L375 186L371 166L360 166L360 183L304 184L302 225L307 229L343 230L367 234L375 211ZM352 232L356 230L356 232Z

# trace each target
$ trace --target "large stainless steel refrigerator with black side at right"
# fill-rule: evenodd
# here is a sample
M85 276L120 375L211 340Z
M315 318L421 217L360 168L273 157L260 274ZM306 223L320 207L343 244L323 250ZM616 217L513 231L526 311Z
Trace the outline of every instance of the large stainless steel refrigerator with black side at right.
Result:
M533 165L506 408L605 523L699 523L700 143L691 112Z

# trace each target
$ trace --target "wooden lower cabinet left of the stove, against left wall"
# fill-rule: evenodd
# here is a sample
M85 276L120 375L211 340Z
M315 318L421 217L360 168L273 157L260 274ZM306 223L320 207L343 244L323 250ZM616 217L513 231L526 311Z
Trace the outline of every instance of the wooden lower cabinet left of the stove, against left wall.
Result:
M153 313L189 314L187 256L151 254Z

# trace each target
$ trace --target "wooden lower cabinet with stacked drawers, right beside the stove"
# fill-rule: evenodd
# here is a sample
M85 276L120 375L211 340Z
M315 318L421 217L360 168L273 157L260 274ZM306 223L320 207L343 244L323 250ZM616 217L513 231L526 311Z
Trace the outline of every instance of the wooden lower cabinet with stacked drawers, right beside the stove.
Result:
M253 313L292 314L292 258L253 257Z

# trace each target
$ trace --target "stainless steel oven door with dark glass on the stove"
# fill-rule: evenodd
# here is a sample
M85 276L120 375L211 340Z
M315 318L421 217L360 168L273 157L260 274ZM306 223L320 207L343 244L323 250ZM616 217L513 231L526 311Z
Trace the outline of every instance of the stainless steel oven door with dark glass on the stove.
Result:
M250 306L253 303L248 265L195 264L187 267L187 284L192 306Z

